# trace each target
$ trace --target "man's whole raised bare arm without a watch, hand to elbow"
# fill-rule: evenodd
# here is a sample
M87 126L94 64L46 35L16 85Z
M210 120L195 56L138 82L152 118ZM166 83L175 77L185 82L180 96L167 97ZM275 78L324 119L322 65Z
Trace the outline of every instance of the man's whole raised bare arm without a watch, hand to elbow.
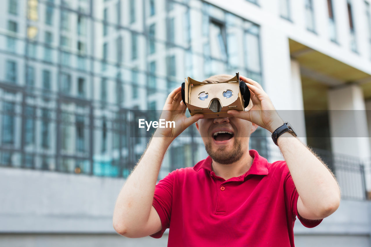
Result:
M203 114L187 118L186 109L178 87L168 95L160 116L165 121L174 121L174 128L157 128L147 150L118 195L113 225L119 234L134 238L161 230L160 217L152 201L162 159L171 142L188 126L203 118Z

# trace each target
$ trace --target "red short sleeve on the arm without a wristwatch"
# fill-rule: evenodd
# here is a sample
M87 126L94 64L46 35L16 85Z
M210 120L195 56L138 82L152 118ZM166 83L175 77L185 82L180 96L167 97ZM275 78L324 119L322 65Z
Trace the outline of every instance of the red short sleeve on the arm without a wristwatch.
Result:
M160 238L164 231L170 226L171 206L173 202L175 171L169 173L165 178L160 180L155 187L152 206L160 216L162 230L150 235L153 238Z

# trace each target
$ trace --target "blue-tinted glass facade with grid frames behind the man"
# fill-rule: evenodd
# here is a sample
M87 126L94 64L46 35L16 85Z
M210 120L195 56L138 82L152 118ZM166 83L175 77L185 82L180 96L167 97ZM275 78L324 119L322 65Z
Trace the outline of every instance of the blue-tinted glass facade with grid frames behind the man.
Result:
M126 177L151 135L135 119L162 109L185 77L240 72L262 83L259 26L200 0L7 4L2 166ZM182 135L160 177L204 158L195 126ZM261 140L250 148L264 155Z

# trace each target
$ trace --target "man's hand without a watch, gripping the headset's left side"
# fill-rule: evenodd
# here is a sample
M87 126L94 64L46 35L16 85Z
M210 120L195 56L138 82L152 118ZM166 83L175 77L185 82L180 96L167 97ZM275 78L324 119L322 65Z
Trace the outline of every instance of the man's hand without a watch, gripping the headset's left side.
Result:
M186 110L187 106L182 101L181 87L175 88L173 92L168 95L160 116L160 119L165 119L165 121L174 121L175 127L157 128L153 137L163 137L167 139L170 144L175 137L177 137L186 128L197 122L198 119L204 117L203 114L197 113L187 118L185 116Z

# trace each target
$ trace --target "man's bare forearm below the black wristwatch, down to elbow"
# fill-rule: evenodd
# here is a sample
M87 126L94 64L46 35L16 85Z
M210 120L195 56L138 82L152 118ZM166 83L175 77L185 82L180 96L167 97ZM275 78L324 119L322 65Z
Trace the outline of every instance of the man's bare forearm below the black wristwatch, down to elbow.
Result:
M339 206L340 189L332 172L288 132L278 138L278 146L303 205L318 215L333 213Z

